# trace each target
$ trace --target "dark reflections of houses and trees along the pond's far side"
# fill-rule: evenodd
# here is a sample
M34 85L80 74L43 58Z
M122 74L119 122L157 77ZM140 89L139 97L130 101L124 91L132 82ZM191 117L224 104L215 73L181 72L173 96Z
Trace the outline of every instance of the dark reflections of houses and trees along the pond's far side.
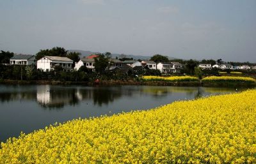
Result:
M243 90L243 89L240 89ZM231 93L235 89L217 87L165 87L165 86L0 86L0 101L33 100L43 108L60 109L66 105L76 106L81 101L91 100L94 105L108 105L122 96L153 96L164 98L173 94L184 93L187 97L200 98L209 94Z

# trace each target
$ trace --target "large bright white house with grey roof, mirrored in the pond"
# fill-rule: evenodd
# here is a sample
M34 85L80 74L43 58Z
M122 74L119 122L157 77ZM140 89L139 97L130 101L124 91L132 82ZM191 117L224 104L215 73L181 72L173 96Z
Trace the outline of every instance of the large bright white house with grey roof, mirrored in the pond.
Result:
M44 56L36 63L37 69L42 69L44 71L54 70L54 66L61 66L65 70L71 70L73 61L68 59L68 57Z

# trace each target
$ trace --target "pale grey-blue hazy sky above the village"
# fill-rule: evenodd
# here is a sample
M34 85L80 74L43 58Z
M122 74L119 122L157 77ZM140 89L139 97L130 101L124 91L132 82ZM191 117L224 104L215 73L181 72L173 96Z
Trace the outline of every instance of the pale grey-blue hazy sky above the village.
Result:
M0 50L256 63L255 0L0 0Z

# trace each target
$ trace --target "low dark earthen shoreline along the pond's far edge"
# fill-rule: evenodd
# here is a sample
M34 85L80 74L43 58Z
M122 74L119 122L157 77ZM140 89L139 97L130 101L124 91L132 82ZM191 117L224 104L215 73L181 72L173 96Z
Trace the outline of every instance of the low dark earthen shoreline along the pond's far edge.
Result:
M48 80L0 80L0 84L26 85L26 84L51 84L51 85L84 85L84 86L177 86L177 87L256 87L256 83L250 82L143 82L135 80L102 80L95 84L93 82L70 82L70 81L48 81Z

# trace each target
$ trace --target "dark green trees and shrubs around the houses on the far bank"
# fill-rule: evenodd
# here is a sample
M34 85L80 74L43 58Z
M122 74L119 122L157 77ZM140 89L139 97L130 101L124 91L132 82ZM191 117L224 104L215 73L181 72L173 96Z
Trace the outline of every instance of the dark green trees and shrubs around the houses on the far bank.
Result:
M65 71L60 66L56 66L54 70L42 71L37 70L35 66L23 66L23 65L8 65L10 63L10 58L13 57L13 52L5 52L1 50L0 52L0 78L1 79L13 79L13 80L61 80L61 81L90 81L95 78L101 78L106 80L127 80L136 79L141 75L161 75L159 70L141 69L141 70L129 70L125 73L120 71L109 70L109 59L111 58L111 53L106 52L104 54L97 54L99 57L95 58L95 71L92 71L86 66L82 66L79 70ZM53 47L51 49L40 50L36 53L36 60L41 59L44 56L61 56L68 57L74 62L78 62L81 58L81 54L78 52L68 52L63 47ZM132 60L132 58L127 58L124 55L120 56L120 61ZM150 58L151 61L156 63L160 62L179 62L183 64L182 69L175 73L176 75L196 75L198 77L206 75L219 75L218 69L212 70L201 70L198 68L199 63L204 64L221 64L223 61L218 59L214 61L213 59L203 59L201 62L195 59L182 60L182 59L172 59L169 60L167 56L162 56L156 54ZM141 60L138 60L141 61ZM234 63L232 63L234 64ZM237 64L237 63L236 63ZM248 64L250 63L238 63L238 64ZM228 71L228 70L227 70Z

